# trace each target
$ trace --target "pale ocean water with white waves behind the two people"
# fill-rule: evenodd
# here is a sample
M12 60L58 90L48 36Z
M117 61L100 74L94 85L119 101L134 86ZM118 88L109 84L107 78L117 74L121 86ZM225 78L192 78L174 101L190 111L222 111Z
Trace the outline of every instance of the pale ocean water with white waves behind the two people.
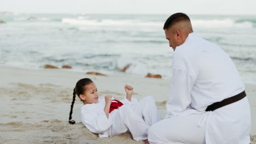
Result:
M73 71L172 75L172 53L162 29L170 15L0 14L0 65ZM256 16L189 15L194 32L219 45L246 83L256 83Z

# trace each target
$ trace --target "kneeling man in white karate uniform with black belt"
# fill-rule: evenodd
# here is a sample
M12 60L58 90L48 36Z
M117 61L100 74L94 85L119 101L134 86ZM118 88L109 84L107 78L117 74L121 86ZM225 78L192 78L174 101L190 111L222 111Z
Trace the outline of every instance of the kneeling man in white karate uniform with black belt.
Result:
M183 13L171 15L164 30L174 50L173 76L166 118L149 128L149 142L250 143L245 85L230 57L195 34Z

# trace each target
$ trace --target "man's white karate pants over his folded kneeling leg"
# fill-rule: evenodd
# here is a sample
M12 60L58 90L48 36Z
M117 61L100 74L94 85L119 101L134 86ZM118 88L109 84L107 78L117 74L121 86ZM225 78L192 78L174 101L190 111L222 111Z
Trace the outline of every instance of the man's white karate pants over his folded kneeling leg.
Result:
M205 143L206 124L197 127L201 116L202 114L191 114L163 119L149 128L148 141L150 144Z

